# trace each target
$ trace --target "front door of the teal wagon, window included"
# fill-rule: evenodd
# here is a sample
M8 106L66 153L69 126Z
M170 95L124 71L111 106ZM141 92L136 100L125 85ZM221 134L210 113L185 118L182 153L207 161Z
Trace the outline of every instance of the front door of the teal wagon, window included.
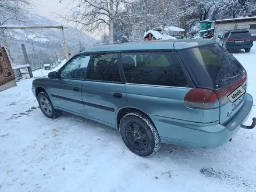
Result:
M79 55L71 59L58 72L51 88L51 100L55 107L64 111L87 116L83 107L81 89L86 77L90 55Z

